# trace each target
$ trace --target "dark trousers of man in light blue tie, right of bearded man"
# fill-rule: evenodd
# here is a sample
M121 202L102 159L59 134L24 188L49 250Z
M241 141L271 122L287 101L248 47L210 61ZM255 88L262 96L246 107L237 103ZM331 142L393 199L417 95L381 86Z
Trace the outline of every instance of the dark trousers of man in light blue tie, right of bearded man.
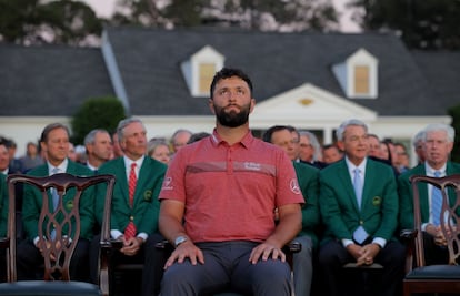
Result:
M402 293L402 278L404 276L406 248L399 242L388 242L376 256L374 262L383 266L380 287L377 295L398 296ZM329 296L346 295L349 285L366 285L366 283L343 283L347 263L356 262L354 257L343 247L339 241L330 241L320 247L319 265L321 278ZM324 290L324 293L326 293Z

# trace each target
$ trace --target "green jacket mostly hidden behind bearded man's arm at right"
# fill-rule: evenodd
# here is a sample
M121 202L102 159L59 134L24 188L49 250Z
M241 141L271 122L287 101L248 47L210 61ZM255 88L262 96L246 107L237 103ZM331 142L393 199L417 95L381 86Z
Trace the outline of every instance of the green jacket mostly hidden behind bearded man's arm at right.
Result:
M294 170L300 190L306 200L302 206L302 229L300 235L308 235L313 242L313 246L318 246L317 228L320 223L320 210L318 204L318 175L319 170L300 162L294 162Z

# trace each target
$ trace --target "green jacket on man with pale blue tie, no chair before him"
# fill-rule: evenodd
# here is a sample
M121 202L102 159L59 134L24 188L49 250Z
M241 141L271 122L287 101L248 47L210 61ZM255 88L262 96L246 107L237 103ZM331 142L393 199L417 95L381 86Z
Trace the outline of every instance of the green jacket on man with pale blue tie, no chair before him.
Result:
M367 160L361 210L346 160L320 171L320 208L326 224L323 242L352 239L359 225L372 237L393 238L398 225L398 192L390 165Z

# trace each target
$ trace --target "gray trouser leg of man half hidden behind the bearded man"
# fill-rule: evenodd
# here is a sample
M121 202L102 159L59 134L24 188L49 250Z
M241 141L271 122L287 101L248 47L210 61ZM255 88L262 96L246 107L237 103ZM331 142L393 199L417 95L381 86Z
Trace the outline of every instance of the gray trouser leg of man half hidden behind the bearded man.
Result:
M310 236L298 236L294 241L301 243L302 249L293 254L293 285L296 296L310 296L313 277L313 243Z

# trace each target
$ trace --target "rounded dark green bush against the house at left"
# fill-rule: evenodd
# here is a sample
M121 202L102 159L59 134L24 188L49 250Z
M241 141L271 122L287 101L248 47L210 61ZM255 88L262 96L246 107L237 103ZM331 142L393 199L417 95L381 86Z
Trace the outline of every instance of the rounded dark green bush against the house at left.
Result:
M82 144L84 136L94 129L104 129L111 133L124 118L123 105L117 98L88 99L72 116L72 142Z

